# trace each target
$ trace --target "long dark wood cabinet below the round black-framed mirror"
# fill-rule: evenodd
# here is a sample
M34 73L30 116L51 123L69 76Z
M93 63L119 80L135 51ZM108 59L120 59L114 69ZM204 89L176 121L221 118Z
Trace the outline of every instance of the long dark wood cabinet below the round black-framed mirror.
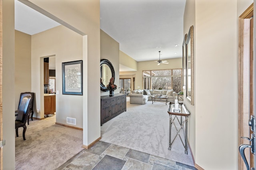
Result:
M100 101L100 125L126 111L125 94L101 96Z

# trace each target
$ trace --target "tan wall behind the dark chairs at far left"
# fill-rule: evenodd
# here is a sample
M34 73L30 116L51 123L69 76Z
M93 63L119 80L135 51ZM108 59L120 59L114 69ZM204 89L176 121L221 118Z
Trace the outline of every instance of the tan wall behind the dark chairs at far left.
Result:
M30 74L31 36L15 30L15 109L18 109L20 93L31 92Z

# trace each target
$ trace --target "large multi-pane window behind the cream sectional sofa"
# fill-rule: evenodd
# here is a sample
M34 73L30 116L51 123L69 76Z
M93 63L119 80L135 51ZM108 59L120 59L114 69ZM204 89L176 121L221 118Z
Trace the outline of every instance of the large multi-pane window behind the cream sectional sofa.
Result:
M147 70L142 72L144 89L182 91L182 69Z

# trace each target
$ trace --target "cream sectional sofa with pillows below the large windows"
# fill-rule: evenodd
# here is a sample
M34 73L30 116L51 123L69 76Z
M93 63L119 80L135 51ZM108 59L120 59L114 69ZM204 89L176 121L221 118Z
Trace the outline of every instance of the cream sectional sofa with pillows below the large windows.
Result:
M142 101L142 98L144 96L148 97L148 100L152 100L152 96L157 96L157 95L162 95L162 96L168 96L167 101L170 102L174 102L174 99L178 99L178 95L177 93L175 93L172 89L171 90L132 90L132 93L130 93L128 96L132 96L132 97L140 97L140 101ZM144 97L146 98L146 97ZM131 104L139 104L139 103L134 103L134 99L132 99L133 103L131 103L131 97L130 97L130 103ZM138 99L137 99L138 100ZM144 103L146 104L146 103Z

